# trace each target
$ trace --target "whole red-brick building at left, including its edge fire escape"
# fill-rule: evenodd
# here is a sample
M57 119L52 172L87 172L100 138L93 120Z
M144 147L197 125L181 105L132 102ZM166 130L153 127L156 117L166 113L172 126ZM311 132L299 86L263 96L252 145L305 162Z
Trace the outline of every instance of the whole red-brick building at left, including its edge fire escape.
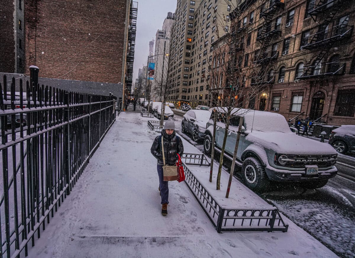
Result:
M27 74L37 65L40 77L126 85L137 2L14 0L0 6L0 72Z

